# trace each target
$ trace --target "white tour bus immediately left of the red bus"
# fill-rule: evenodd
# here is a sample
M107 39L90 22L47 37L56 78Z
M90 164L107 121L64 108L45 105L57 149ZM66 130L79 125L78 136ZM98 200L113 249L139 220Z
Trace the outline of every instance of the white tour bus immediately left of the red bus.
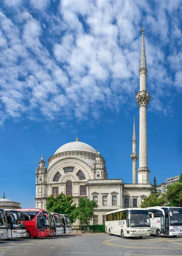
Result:
M23 238L26 237L26 227L23 218L23 213L14 209L5 209L6 222L8 227L9 238Z

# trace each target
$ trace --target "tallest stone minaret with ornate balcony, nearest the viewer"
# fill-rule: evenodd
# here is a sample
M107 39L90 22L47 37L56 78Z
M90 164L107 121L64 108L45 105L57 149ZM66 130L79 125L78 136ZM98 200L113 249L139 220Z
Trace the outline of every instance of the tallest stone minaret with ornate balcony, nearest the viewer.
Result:
M150 95L146 90L147 63L145 57L144 29L142 25L142 49L139 66L139 91L137 102L139 105L139 169L138 183L149 183L148 157L147 157L147 105Z

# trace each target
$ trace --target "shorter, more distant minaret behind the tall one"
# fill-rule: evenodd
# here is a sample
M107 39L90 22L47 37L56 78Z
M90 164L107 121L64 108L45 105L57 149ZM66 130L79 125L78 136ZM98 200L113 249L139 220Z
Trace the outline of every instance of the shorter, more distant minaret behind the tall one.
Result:
M135 128L135 117L134 117L134 129L133 129L133 138L132 138L132 170L133 170L133 184L137 183L137 136L136 136L136 128Z

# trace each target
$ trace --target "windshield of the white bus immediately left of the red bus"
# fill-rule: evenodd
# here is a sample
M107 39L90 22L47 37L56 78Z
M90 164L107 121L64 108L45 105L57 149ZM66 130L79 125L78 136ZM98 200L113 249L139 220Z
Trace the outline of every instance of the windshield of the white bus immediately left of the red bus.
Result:
M11 212L7 212L7 215L11 216L13 230L25 229L25 225L23 221L23 212L11 210Z

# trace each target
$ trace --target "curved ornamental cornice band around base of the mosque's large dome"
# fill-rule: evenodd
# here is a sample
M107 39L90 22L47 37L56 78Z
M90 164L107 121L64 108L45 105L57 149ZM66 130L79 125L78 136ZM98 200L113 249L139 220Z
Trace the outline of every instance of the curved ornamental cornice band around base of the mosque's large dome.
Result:
M92 154L84 151L65 151L61 153L57 153L49 157L48 163L51 163L52 160L60 158L60 157L89 157L95 160L97 154Z

